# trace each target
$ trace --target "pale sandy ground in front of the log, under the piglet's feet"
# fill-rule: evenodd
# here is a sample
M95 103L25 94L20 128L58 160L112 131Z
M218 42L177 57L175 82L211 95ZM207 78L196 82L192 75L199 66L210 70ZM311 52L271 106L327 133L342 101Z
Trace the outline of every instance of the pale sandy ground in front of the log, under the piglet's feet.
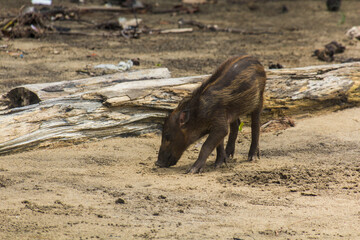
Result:
M339 124L342 123L342 124ZM360 109L264 133L262 158L184 174L154 166L159 136L0 158L1 239L359 239Z

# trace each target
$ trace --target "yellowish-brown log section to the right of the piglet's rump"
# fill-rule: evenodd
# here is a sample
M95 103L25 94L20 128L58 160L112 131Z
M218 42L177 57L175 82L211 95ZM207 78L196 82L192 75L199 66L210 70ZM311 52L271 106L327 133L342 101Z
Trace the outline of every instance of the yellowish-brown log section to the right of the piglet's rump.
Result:
M299 115L360 104L360 62L267 71L265 112Z

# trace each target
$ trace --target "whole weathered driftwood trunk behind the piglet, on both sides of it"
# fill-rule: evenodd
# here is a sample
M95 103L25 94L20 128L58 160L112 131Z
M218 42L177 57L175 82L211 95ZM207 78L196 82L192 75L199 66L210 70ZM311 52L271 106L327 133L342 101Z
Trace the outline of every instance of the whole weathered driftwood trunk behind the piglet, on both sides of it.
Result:
M267 75L264 119L360 105L360 63L268 70ZM6 94L8 108L0 111L0 154L156 131L207 77L169 78L157 69L18 87Z

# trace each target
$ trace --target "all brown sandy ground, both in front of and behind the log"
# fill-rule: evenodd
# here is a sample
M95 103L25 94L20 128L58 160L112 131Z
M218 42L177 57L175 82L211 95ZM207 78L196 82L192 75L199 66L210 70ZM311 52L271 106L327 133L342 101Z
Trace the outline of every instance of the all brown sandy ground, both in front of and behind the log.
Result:
M14 14L24 3L1 1L0 15ZM182 17L273 34L2 39L0 93L25 83L85 78L95 64L135 57L141 62L136 68L161 65L173 76L211 73L242 52L265 67L324 64L312 52L333 40L346 46L335 63L360 57L360 43L344 36L359 24L360 2L343 1L340 12L326 11L324 1L255 1L255 10L247 4L219 1L196 15L140 17L153 28L177 27ZM87 16L98 22L115 17ZM76 22L54 24L86 29ZM291 116L293 128L262 133L257 162L245 161L245 127L235 159L214 169L212 155L198 175L184 173L203 140L176 166L159 169L156 134L1 156L0 239L360 239L360 109L304 116Z

